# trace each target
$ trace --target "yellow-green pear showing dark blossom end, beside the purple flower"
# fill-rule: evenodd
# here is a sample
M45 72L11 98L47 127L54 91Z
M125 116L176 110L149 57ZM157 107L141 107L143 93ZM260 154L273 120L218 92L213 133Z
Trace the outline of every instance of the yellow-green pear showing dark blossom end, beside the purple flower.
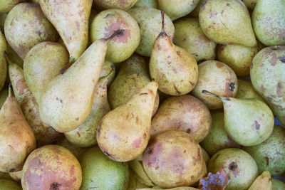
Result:
M219 169L229 176L227 189L247 190L257 178L257 164L254 159L241 149L222 149L209 160L209 172L216 173Z

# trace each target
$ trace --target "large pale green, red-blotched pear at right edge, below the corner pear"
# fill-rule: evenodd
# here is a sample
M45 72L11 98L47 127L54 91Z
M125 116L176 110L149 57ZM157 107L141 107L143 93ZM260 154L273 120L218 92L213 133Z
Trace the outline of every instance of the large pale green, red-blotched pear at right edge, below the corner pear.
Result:
M255 90L285 125L285 46L264 48L252 60L250 77Z

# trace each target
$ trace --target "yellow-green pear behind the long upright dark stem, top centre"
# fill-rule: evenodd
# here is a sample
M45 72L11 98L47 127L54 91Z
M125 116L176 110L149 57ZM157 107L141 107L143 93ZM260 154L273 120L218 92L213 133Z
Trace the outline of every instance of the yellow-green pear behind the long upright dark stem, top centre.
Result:
M128 14L133 16L140 26L140 45L135 52L150 57L155 38L161 31L160 10L138 7L128 10ZM170 40L174 38L175 28L167 15L165 15L165 32L170 36Z

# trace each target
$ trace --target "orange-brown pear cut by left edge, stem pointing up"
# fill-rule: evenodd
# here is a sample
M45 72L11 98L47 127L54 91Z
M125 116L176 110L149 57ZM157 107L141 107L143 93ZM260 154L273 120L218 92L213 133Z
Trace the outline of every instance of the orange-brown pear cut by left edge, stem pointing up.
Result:
M25 159L36 148L36 139L9 87L9 96L0 110L0 171L22 169Z

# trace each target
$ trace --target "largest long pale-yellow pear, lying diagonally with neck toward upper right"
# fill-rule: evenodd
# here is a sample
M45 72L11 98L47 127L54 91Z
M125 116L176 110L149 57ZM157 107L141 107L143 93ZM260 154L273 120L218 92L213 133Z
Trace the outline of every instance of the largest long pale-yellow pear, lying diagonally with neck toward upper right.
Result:
M58 132L75 130L88 117L103 68L107 41L95 41L62 75L53 78L41 94L41 119Z

